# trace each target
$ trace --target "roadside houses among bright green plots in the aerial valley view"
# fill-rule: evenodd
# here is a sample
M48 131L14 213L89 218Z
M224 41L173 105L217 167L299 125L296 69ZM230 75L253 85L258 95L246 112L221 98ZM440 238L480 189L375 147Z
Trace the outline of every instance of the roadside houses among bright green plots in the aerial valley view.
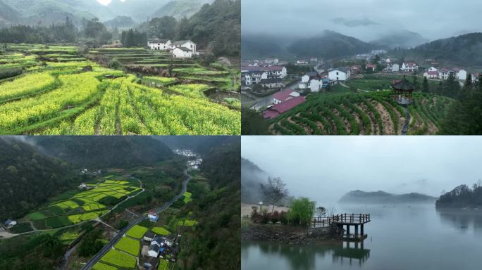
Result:
M158 217L156 212L149 212L150 221L156 222ZM159 259L175 262L180 252L181 235L178 234L174 239L157 236L152 231L148 231L142 238L142 259L144 270L157 269Z

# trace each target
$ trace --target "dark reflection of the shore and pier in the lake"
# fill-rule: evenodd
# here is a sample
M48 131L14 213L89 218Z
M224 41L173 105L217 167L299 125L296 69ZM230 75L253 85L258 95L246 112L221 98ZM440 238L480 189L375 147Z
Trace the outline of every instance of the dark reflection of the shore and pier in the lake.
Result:
M316 258L332 257L333 264L358 264L361 266L370 257L370 250L363 241L331 243L327 245L283 245L279 243L242 243L242 254L248 259L249 250L256 250L265 259L283 257L289 265L285 269L316 269ZM289 266L289 267L288 267Z

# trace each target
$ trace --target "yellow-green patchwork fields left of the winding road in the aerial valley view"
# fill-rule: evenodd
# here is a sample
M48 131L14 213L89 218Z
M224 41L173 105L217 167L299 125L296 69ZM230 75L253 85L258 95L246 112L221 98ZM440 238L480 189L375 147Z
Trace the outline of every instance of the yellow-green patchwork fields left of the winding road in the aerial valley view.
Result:
M27 221L32 221L36 229L54 229L83 221L96 219L106 214L112 205L104 205L104 201L122 201L123 198L135 195L141 191L137 181L104 180L89 184L89 190L78 193L68 193L67 198L49 203L36 212L27 214ZM72 232L62 236L62 240L72 238Z

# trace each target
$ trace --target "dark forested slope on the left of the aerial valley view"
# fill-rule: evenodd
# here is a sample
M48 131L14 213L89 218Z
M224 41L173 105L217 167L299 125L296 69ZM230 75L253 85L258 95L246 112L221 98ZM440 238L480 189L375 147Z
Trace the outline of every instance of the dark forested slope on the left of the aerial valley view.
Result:
M23 217L75 182L68 166L13 137L0 139L0 221Z

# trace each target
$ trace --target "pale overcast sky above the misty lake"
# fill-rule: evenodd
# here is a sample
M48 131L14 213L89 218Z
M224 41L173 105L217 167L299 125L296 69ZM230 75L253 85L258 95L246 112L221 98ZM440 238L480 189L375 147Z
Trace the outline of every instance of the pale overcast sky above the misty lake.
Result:
M324 203L357 189L438 196L482 179L479 136L242 136L242 157Z

